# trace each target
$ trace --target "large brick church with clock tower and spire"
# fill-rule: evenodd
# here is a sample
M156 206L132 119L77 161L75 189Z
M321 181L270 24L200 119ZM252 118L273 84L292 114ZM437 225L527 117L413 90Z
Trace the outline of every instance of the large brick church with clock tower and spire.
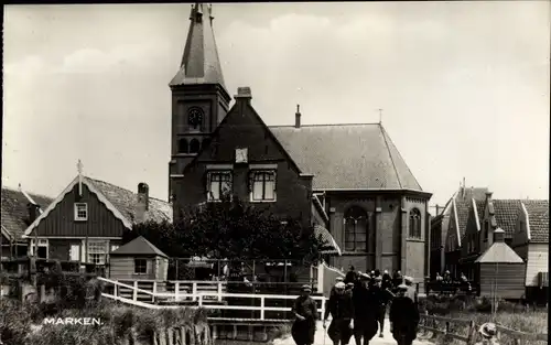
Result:
M267 126L249 87L237 90L230 107L212 11L192 6L182 63L170 82L174 219L230 193L326 229L338 247L327 258L332 266L401 270L422 282L431 193L382 125L305 125L298 106L294 123Z

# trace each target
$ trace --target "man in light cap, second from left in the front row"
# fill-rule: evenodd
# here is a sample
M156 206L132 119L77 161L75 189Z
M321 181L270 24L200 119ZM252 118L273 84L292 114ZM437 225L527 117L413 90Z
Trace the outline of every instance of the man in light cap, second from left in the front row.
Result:
M329 297L323 317L324 328L327 327L329 313L333 317L327 335L334 345L347 345L352 337L352 328L354 328L354 303L352 293L345 292L345 287L344 282L335 285L335 293Z

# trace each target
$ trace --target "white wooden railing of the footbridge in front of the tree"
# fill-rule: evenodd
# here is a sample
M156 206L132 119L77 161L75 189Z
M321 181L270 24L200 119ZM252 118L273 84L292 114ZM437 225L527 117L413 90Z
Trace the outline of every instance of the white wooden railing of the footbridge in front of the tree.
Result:
M289 301L294 300L298 295L285 295L285 294L257 294L257 293L227 293L223 291L208 292L208 291L195 291L182 292L175 290L174 292L159 292L141 289L138 287L138 282L133 284L127 284L120 281L109 280L106 278L98 278L105 283L105 291L101 293L102 297L120 301L127 304L132 304L137 306L148 308L148 309L175 309L182 308L182 305L174 304L161 304L163 302L190 302L187 306L190 308L204 308L207 310L217 311L251 311L259 312L259 316L251 317L250 320L260 321L283 321L287 319L270 319L267 317L267 312L289 312L289 306L273 306L271 304L276 301ZM325 311L324 297L314 295L312 297L316 302L321 302L318 312L323 314ZM252 300L252 303L244 303L241 305L227 303L228 299L239 299L239 300ZM214 303L213 303L214 302ZM271 303L270 303L271 302ZM228 305L229 304L229 305ZM287 304L287 303L285 303ZM227 317L210 317L212 320L223 320Z

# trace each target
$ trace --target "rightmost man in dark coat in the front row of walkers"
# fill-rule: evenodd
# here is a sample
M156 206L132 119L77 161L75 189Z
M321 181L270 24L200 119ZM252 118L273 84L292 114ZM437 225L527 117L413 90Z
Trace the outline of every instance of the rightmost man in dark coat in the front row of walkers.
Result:
M398 294L390 305L390 332L398 345L411 345L417 338L419 309L407 294L408 287L400 284Z

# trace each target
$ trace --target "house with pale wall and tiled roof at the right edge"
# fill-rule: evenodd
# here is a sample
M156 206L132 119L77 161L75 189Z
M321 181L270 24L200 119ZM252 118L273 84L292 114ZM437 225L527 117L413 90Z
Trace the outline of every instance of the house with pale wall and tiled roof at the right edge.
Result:
M511 247L526 262L527 298L542 300L549 289L549 201L522 201L520 205Z

